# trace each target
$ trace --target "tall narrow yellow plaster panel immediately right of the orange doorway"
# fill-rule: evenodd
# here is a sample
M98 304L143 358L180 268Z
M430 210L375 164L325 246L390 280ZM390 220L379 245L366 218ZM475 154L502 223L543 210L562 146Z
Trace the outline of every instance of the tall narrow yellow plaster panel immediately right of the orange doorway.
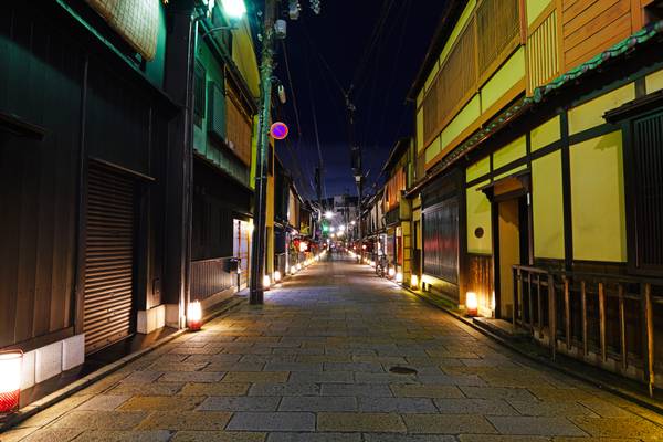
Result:
M532 161L534 255L564 259L561 151Z

